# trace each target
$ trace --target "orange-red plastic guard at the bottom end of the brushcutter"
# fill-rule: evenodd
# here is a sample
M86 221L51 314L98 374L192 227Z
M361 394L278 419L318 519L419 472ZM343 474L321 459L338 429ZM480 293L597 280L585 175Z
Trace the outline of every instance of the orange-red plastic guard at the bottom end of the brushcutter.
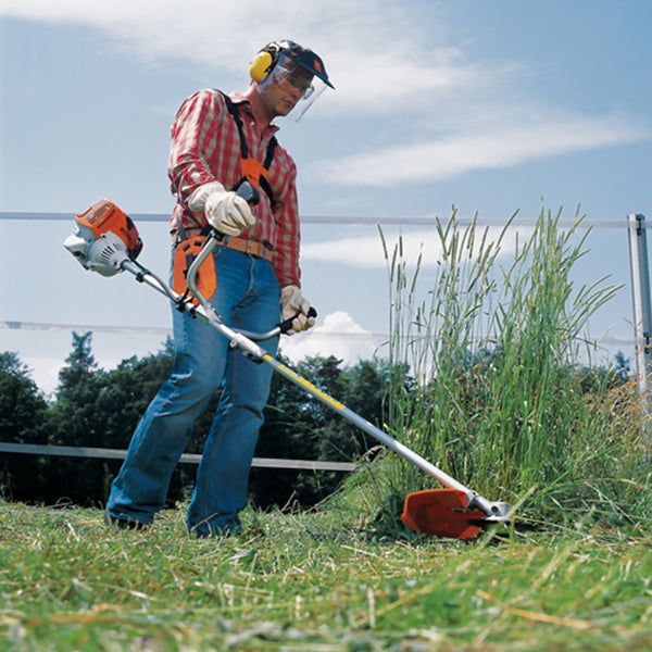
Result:
M405 498L401 521L417 532L469 539L479 534L479 522L485 514L480 510L468 510L466 499L466 493L457 489L416 491Z

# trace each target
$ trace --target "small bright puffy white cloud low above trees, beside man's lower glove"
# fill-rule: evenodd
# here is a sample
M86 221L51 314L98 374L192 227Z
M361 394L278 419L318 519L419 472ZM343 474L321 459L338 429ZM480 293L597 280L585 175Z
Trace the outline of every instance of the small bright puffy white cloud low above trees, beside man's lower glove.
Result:
M326 315L323 324L305 333L283 337L280 352L293 363L310 355L335 355L347 366L369 360L381 339L362 328L348 313L338 311Z

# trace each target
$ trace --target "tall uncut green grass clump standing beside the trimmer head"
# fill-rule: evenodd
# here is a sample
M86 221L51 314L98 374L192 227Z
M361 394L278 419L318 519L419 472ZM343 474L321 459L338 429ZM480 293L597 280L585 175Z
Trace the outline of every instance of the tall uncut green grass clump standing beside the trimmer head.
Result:
M531 233L503 249L476 220L453 212L437 224L441 259L424 283L423 260L389 252L392 365L415 387L390 387L389 429L463 484L491 500L516 502L547 521L594 510L636 521L650 506L641 454L642 412L634 384L591 366L582 338L589 318L619 289L607 277L577 286L587 253L581 217L562 230L561 212L541 210ZM424 488L423 473L390 463L398 494Z

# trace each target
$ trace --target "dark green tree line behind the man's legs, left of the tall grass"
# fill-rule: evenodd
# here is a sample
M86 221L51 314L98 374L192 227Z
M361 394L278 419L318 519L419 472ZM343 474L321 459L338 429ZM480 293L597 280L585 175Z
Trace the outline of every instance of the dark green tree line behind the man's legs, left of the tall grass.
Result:
M91 344L91 333L73 334L72 351L60 372L52 405L38 394L36 385L15 356L5 354L0 364L3 371L0 375L0 426L3 431L10 431L10 422L1 419L13 418L12 427L18 424L22 428L12 431L11 437L16 441L33 438L34 441L57 446L126 449L142 414L170 375L174 346L168 338L158 353L123 360L115 369L105 372L98 367ZM280 361L289 364L283 358ZM352 368L342 368L341 363L335 356L315 356L296 366L301 376L319 389L381 426L386 421L384 401L391 376L387 363L364 361ZM15 398L17 390L14 386L22 388L20 398ZM198 418L186 452L202 452L218 399L220 392ZM17 409L12 409L14 403ZM256 456L350 461L376 444L375 441L367 442L365 437L360 428L322 404L302 387L273 374ZM18 456L14 455L11 460L12 473L15 457ZM82 505L103 504L122 464L120 460L22 457L25 463L32 460L33 466L25 475L28 482L20 486L20 496L15 491L14 496L20 500L47 503L67 498ZM39 466L35 471L37 462ZM189 496L196 473L197 467L192 465L177 467L168 491L171 502ZM7 472L4 476L9 477ZM250 496L255 504L263 507L272 504L283 506L289 500L309 506L328 496L341 478L342 474L336 472L254 467ZM8 482L5 479L7 487ZM18 486L13 475L12 482L12 487Z

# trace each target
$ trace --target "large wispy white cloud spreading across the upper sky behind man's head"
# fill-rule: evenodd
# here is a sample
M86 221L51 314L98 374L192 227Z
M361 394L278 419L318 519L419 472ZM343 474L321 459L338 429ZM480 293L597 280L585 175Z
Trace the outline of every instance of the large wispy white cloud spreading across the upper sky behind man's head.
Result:
M243 84L247 63L271 38L314 48L337 91L322 98L311 115L388 116L388 129L403 142L315 164L311 176L326 183L387 187L441 180L650 136L627 116L563 115L523 97L527 68L480 63L463 47L451 47L435 2L425 9L399 0L310 7L303 0L187 0L181 11L160 0L0 0L0 16L88 25L143 59L188 60ZM398 130L397 120L403 121ZM351 126L343 122L342 128Z

